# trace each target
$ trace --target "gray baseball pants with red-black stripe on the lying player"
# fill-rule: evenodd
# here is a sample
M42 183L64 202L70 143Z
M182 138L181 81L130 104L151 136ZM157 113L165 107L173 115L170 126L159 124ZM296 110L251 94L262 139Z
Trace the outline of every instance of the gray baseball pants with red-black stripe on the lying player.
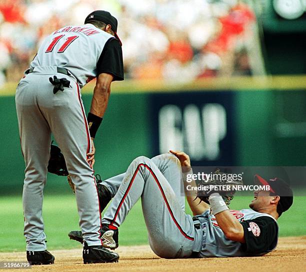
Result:
M192 217L185 214L181 188L181 167L172 154L152 159L138 157L126 173L104 181L112 191L119 188L107 208L102 223L119 227L136 201L141 198L142 212L154 253L163 258L189 257L201 237L196 237Z

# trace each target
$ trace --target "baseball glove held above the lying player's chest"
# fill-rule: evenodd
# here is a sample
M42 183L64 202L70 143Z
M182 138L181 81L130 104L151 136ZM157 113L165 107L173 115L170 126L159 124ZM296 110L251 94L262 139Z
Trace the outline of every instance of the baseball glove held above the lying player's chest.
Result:
M234 180L233 178L229 177L232 177L232 175L230 175L229 173L220 172L220 169L217 168L213 173L211 173L208 180L201 180L197 184L197 186L203 185L202 187L205 188L204 190L197 191L197 197L200 200L209 204L209 195L211 195L212 193L219 193L219 195L222 196L226 205L229 205L236 192L233 188L233 185L243 185L242 179Z

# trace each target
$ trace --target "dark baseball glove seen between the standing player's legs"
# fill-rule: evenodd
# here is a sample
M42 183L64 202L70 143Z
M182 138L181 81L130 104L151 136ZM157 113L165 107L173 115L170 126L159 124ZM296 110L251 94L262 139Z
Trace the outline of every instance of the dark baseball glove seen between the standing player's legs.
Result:
M58 146L51 144L50 146L50 159L48 163L48 172L58 175L67 176L68 170L63 154L60 152Z

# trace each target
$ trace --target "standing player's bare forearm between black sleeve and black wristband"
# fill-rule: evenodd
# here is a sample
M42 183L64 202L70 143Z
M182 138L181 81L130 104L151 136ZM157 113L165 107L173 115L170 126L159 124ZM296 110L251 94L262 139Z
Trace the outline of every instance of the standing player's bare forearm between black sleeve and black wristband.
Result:
M90 112L98 117L103 117L107 108L110 95L110 86L96 85L93 90Z

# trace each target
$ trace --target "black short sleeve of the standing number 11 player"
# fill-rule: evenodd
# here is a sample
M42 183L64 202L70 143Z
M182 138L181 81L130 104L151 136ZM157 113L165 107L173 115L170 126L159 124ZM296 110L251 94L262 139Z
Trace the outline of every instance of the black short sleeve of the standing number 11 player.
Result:
M111 74L113 80L123 80L122 49L115 38L110 38L96 64L96 76L102 73Z

